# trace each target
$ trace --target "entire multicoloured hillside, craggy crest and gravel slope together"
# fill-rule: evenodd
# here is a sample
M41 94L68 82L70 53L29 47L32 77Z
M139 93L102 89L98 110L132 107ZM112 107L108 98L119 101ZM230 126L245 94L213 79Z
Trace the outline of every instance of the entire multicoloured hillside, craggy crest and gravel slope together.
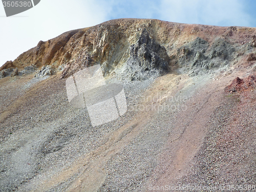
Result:
M67 79L96 65L127 112L92 126ZM255 187L255 75L255 28L116 19L39 41L0 68L0 191Z

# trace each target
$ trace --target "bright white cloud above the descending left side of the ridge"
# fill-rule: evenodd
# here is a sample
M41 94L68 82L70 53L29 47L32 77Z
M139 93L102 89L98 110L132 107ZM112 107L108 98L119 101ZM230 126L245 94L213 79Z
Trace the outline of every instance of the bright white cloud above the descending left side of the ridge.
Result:
M90 27L106 20L108 4L93 0L42 0L34 8L5 17L0 5L0 66L63 32Z

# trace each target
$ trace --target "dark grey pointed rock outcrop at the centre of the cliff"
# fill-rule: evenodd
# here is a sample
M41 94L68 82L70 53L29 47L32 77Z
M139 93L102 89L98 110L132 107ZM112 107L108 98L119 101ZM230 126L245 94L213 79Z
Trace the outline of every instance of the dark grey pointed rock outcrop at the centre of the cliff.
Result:
M169 57L164 47L150 38L143 30L136 44L130 47L130 57L124 65L124 78L127 80L145 80L162 75L167 71Z

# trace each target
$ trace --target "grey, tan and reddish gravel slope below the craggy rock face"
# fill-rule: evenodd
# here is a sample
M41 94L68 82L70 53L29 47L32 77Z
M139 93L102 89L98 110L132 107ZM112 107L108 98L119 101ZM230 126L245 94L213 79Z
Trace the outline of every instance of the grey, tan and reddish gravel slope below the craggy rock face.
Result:
M58 75L34 84L29 76L6 77L0 83L16 84L8 90L9 100L0 95L6 100L0 190L255 184L256 92L224 92L227 82L246 72L167 74L126 83L128 111L96 127L86 109L69 105L65 80ZM139 110L141 105L148 108Z

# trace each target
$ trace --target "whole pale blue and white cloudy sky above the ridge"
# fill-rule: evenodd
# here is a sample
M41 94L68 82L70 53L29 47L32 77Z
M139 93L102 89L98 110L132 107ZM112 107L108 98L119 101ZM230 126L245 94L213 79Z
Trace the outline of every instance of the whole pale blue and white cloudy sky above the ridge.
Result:
M35 47L39 40L110 19L157 18L187 24L256 27L255 8L255 0L41 0L28 11L6 17L0 5L0 66Z

